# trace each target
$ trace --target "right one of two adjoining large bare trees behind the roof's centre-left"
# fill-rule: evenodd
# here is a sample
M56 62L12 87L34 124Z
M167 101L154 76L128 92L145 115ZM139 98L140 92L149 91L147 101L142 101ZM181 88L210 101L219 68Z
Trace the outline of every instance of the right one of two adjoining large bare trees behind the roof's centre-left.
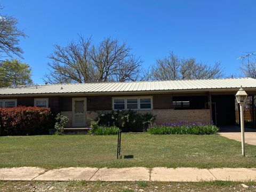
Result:
M98 46L92 46L91 59L98 72L99 82L136 81L142 61L131 54L126 42L104 39Z

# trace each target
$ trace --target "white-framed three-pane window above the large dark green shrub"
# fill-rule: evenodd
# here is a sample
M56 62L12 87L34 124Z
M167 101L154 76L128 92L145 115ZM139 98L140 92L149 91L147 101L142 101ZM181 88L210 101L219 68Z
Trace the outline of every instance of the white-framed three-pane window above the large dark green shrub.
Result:
M114 110L143 110L152 109L151 98L113 98L113 109Z

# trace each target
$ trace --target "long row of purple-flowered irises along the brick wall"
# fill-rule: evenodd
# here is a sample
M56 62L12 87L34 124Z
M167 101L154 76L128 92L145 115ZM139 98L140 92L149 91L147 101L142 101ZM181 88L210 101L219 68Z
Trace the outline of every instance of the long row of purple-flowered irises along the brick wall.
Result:
M182 126L151 126L148 129L150 134L216 134L219 128L215 125L182 125Z

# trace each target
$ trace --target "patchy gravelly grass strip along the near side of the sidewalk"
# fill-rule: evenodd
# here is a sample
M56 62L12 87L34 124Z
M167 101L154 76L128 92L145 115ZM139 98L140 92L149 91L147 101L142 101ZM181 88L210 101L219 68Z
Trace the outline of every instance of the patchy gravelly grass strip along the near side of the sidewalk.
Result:
M248 188L243 188L244 183ZM140 189L140 190L139 190ZM256 182L103 182L103 181L0 181L0 191L255 191Z

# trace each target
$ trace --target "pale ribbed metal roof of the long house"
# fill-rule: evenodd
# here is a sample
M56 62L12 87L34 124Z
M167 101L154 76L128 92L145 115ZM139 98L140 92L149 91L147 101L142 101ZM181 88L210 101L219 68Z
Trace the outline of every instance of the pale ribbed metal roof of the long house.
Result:
M20 94L107 94L107 93L151 93L175 91L205 91L256 88L253 78L195 79L178 81L145 81L145 82L113 82L113 83L77 83L48 85L19 85L3 87L0 96ZM255 89L256 90L256 89Z

